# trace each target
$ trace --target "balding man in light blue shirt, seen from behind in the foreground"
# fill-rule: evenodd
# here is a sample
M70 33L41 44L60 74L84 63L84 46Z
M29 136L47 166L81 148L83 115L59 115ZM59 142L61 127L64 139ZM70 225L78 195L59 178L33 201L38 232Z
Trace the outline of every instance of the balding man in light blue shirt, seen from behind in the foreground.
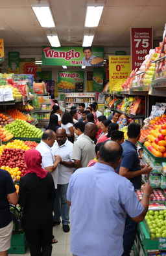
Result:
M80 168L69 181L67 200L71 205L71 252L77 256L121 256L126 212L142 221L148 210L152 189L143 187L143 200L137 200L134 186L115 173L123 149L106 141L92 167Z

